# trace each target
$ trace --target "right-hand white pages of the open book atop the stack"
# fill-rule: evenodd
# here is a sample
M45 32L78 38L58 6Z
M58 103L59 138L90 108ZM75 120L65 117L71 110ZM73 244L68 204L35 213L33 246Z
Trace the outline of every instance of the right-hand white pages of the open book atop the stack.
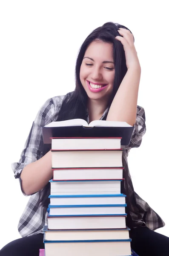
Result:
M105 120L95 120L89 123L89 127L93 126L110 126L110 127L132 127L126 122L120 121L105 121Z

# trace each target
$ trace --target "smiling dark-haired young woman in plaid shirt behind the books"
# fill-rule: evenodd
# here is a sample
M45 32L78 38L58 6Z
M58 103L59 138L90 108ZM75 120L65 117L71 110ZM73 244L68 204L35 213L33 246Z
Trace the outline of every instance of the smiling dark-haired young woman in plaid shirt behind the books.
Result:
M134 37L125 26L105 23L86 38L77 57L75 90L44 103L19 162L12 165L23 194L31 197L18 225L22 238L3 247L0 256L38 256L39 249L44 248L42 229L47 224L52 161L50 148L43 144L42 128L52 121L74 118L135 125L129 145L123 146L122 192L127 195L126 224L131 229L131 246L139 256L168 255L169 238L154 231L164 222L135 193L127 164L129 150L140 146L146 131L144 109L137 106L140 74Z

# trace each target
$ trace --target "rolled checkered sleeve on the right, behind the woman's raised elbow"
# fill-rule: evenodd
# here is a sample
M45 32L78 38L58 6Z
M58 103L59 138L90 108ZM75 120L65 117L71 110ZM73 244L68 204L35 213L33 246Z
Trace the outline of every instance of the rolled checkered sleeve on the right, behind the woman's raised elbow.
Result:
M142 137L146 132L146 116L142 107L137 106L137 116L135 122L135 128L132 133L132 137L129 145L125 146L125 149L138 148L141 144Z

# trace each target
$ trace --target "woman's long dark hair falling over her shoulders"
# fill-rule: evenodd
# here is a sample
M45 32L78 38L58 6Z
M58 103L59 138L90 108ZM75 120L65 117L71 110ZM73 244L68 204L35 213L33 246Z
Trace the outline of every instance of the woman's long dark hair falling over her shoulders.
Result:
M71 96L70 94L67 94L65 96L60 109L60 113L57 116L57 121L63 121L63 120L75 119L75 118L81 118L81 119L87 120L86 110L87 110L88 96L80 81L80 66L83 61L83 57L86 52L86 49L89 47L89 44L91 44L92 41L95 41L95 40L101 40L103 42L110 43L113 46L112 52L113 52L113 59L115 63L115 80L114 80L113 92L107 104L107 107L110 107L112 100L114 99L115 94L117 93L117 90L120 86L120 83L127 72L126 58L125 58L123 45L121 44L120 41L115 39L117 35L120 35L117 31L119 28L128 29L125 26L120 25L118 23L113 23L113 22L105 23L103 26L100 26L94 31L92 31L92 33L83 42L82 46L80 47L80 51L76 61L76 68L75 68L76 87L74 92L71 94ZM104 119L106 119L106 116L104 117ZM124 178L126 177L126 175L127 173L123 172ZM126 186L126 189L127 189L127 186ZM124 191L124 184L122 183L123 192L125 192L125 194L128 194L126 189ZM48 198L50 195L50 183L48 183L44 187L42 193L43 194L40 196L40 204L42 204L43 207L47 209L48 204L50 202ZM129 202L129 199L127 197L126 197L126 203L128 205L128 212L129 212L131 202Z

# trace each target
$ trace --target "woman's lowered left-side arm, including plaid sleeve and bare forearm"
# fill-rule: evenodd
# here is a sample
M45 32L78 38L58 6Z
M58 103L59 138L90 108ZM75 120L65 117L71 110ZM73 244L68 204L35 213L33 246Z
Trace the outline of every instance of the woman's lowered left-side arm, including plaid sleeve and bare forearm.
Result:
M37 113L20 160L12 164L15 178L19 178L24 195L32 195L43 189L52 178L52 156L43 144L42 128L52 122L62 98L47 100Z

